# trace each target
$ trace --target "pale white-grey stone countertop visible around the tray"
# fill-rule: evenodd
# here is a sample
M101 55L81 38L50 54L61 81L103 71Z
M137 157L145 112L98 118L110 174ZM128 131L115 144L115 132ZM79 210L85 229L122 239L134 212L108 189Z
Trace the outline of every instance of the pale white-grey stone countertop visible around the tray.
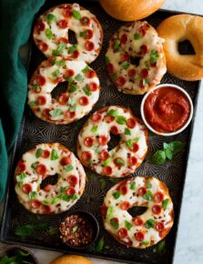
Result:
M203 15L202 0L167 0L162 8ZM187 178L184 188L183 203L178 226L174 264L203 263L203 210L199 209L203 201L203 85L198 96L198 108L190 155L188 160ZM0 247L5 245L0 244ZM40 264L49 264L52 259L61 255L41 249L32 249ZM92 259L94 264L116 264L115 261ZM164 264L164 263L163 263Z

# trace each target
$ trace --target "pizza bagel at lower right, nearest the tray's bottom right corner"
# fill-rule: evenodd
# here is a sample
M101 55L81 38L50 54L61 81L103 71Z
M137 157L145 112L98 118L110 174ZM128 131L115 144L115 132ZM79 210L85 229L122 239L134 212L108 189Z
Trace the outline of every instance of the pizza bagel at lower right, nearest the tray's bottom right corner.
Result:
M145 207L133 218L127 210ZM154 177L127 178L107 191L102 216L107 231L121 244L136 249L156 245L173 226L173 203L167 186Z

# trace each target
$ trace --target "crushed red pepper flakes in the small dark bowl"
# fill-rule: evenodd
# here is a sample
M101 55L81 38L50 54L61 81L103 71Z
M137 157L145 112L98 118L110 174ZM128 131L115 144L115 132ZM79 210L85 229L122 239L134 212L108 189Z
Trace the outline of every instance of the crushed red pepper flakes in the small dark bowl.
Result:
M80 214L67 217L59 228L60 239L72 247L83 247L94 239L94 229L91 223Z

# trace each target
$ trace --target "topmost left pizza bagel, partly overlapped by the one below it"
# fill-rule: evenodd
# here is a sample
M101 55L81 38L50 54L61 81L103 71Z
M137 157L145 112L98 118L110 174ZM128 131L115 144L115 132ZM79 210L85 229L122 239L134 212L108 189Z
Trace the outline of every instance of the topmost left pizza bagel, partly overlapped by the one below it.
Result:
M68 41L68 30L76 34L76 45ZM96 16L78 4L57 5L40 15L34 41L45 56L78 58L87 64L98 56L103 33Z

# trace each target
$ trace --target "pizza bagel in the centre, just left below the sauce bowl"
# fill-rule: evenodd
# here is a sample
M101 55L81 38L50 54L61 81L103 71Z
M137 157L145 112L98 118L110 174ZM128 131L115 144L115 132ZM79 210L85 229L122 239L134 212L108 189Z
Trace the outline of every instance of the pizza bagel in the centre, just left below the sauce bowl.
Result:
M108 151L110 133L119 135ZM122 178L134 173L147 155L147 128L124 107L104 107L90 117L79 133L77 155L96 173Z

